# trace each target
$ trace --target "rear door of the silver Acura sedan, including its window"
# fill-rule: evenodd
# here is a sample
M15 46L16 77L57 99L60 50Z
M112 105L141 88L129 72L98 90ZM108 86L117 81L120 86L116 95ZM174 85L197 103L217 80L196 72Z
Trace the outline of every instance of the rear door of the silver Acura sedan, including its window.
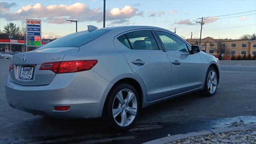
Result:
M114 40L132 71L143 80L148 102L170 96L171 91L170 60L155 37L152 30L136 30Z

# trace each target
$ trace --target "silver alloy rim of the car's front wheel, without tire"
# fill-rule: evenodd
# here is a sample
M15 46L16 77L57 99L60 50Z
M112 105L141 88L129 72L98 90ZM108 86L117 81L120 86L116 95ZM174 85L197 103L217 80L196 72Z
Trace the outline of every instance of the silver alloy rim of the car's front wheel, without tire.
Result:
M214 70L211 70L207 78L207 87L211 94L216 91L217 88L217 74Z

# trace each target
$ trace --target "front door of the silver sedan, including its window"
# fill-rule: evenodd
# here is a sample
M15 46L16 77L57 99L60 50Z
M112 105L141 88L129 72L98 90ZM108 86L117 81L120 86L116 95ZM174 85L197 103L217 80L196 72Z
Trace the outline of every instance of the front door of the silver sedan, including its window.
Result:
M154 30L172 64L172 95L200 88L203 65L198 53L189 52L188 44L166 31Z

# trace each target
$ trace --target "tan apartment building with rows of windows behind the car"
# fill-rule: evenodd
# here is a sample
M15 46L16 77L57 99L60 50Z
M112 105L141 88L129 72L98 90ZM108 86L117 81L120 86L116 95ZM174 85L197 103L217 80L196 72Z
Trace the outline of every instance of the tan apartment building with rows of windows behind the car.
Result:
M190 44L198 45L199 39L187 39ZM201 50L218 57L218 52L224 53L226 60L231 56L256 55L256 40L228 40L206 37L201 40Z

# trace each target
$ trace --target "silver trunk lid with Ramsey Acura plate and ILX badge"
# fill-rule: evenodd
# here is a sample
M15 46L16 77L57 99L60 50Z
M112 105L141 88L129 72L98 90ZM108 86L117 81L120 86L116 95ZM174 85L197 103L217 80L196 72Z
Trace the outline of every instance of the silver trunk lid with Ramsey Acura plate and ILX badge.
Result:
M50 70L39 70L45 62L62 61L65 55L74 54L79 51L78 47L44 48L30 52L15 54L10 70L12 82L24 86L48 85L55 77Z

